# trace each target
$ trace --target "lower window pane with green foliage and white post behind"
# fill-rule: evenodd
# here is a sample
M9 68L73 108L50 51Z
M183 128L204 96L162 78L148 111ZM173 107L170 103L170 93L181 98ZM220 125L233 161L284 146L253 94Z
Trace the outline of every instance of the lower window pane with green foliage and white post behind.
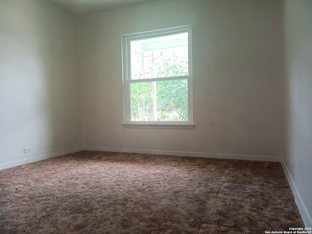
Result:
M188 80L131 83L131 121L188 121Z

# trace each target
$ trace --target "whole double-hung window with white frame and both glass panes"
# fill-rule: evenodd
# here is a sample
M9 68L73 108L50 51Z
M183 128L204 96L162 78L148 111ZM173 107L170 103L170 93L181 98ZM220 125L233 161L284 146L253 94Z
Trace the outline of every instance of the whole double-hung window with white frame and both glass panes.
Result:
M193 125L191 36L190 26L122 36L125 125Z

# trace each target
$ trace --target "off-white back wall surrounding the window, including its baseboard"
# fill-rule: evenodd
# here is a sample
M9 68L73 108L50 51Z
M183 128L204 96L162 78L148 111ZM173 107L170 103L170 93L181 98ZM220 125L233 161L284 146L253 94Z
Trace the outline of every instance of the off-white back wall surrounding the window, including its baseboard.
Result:
M195 129L123 129L121 35L187 24ZM80 40L84 149L280 161L281 0L159 0L80 18Z

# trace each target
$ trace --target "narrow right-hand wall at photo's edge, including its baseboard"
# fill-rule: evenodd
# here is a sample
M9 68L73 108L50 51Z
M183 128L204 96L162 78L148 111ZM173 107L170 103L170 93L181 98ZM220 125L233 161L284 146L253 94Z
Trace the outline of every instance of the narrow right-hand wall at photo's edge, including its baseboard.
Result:
M283 166L307 227L312 227L312 1L284 4ZM293 162L293 167L292 167Z

